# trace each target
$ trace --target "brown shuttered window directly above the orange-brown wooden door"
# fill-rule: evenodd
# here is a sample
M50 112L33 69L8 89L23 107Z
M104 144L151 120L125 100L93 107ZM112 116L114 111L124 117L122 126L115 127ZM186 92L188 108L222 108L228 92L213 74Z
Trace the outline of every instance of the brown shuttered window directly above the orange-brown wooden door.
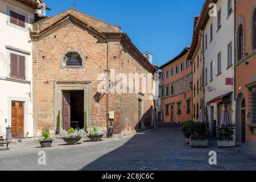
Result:
M10 76L12 78L19 78L22 80L26 79L26 57L15 55L11 53L11 73Z

